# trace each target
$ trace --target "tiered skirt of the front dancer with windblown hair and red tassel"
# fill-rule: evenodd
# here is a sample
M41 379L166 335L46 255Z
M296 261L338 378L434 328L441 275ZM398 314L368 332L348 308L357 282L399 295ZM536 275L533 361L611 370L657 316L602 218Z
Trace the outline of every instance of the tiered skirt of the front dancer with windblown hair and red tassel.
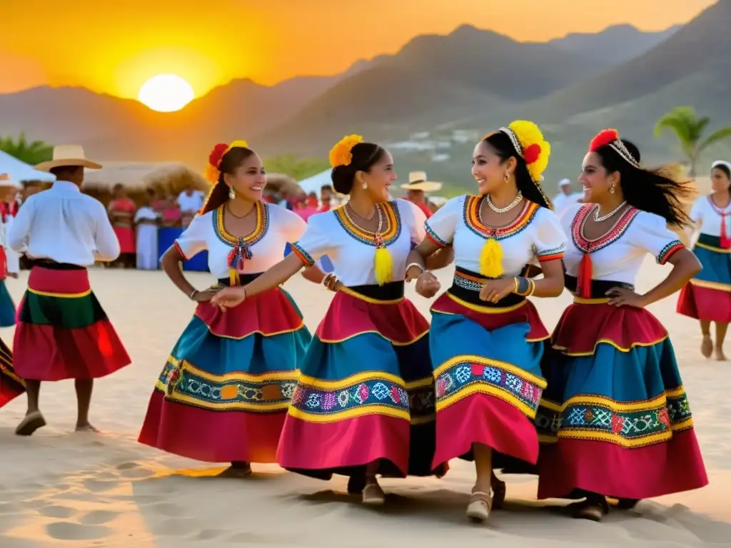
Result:
M597 298L575 299L553 332L539 498L640 500L708 484L667 330L643 308L599 298L621 285L595 281Z

